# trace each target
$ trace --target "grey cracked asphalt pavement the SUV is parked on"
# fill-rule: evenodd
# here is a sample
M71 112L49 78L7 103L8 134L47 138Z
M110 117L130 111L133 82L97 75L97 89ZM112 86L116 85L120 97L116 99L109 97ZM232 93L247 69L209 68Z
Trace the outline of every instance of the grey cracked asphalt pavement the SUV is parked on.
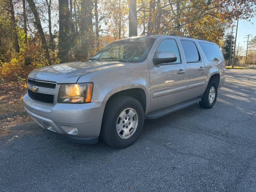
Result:
M11 131L0 137L0 191L256 191L256 70L227 70L215 107L147 120L121 150L35 123Z

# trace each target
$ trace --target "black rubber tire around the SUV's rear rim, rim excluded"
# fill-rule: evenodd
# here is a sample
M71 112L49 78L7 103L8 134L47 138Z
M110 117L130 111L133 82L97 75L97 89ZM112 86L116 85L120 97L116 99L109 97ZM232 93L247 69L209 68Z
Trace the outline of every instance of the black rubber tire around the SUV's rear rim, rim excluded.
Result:
M213 102L211 103L209 101L209 93L210 93L210 89L212 86L215 89L215 98L214 98ZM199 102L199 105L205 109L212 108L214 106L215 102L217 101L217 95L218 95L218 85L216 82L210 81L209 84L207 85L207 88L206 88L204 94L203 94L201 102Z

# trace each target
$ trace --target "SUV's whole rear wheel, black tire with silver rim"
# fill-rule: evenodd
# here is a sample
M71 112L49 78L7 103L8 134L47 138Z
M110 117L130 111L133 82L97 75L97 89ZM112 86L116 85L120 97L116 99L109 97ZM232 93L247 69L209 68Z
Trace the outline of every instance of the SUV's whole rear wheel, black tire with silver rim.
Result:
M206 109L212 108L217 100L217 94L218 94L217 83L215 83L214 81L209 82L204 92L202 101L199 102L199 105Z

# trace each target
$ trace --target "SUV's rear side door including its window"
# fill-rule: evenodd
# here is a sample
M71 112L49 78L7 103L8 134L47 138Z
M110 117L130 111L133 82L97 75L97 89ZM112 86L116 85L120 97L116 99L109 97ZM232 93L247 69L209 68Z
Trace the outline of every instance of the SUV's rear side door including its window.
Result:
M182 49L186 59L188 99L196 98L205 91L205 66L194 41L182 40Z

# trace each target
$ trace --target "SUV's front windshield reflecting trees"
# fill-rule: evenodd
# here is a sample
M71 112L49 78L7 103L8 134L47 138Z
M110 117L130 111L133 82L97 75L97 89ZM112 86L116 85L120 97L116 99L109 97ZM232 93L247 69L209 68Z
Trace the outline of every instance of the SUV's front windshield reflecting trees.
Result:
M142 62L155 42L155 38L131 38L108 44L89 60Z

